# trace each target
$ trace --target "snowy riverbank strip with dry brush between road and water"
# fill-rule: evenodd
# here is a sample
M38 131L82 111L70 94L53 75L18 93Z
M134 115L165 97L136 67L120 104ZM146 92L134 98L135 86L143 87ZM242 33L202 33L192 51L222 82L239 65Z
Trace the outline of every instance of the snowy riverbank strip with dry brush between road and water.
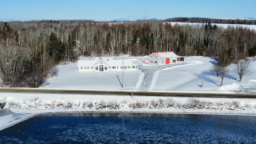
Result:
M1 93L0 129L31 116L58 112L150 112L256 116L256 99ZM3 97L0 97L3 98Z

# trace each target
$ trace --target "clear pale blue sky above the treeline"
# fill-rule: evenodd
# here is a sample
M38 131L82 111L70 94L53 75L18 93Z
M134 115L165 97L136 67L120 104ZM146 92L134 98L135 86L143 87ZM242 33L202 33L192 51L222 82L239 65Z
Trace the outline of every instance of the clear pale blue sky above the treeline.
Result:
M0 21L256 18L256 0L0 0Z

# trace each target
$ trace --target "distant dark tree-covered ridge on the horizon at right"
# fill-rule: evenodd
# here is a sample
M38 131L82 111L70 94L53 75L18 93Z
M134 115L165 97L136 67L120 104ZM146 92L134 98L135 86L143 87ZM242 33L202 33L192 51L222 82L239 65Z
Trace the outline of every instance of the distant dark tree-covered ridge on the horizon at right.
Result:
M164 22L194 22L194 23L216 23L216 24L250 24L256 25L254 18L237 18L237 19L212 19L212 18L168 18Z

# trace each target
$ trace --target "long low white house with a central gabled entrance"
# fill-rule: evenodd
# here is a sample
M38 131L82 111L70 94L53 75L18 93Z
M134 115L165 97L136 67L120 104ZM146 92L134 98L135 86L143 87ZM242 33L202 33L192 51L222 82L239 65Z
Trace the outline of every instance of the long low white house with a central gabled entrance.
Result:
M78 60L79 72L108 72L138 70L131 59L96 58L95 60Z

